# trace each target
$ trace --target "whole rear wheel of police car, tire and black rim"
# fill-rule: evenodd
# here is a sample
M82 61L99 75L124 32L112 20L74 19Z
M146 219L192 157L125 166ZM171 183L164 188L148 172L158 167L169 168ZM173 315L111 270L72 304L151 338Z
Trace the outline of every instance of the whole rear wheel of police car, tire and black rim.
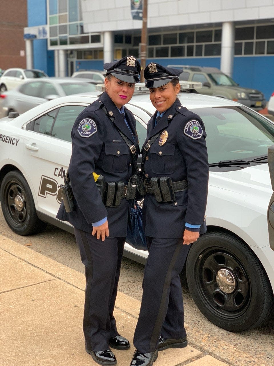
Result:
M18 171L8 172L1 183L0 201L8 226L18 235L41 232L46 223L36 213L30 187Z

